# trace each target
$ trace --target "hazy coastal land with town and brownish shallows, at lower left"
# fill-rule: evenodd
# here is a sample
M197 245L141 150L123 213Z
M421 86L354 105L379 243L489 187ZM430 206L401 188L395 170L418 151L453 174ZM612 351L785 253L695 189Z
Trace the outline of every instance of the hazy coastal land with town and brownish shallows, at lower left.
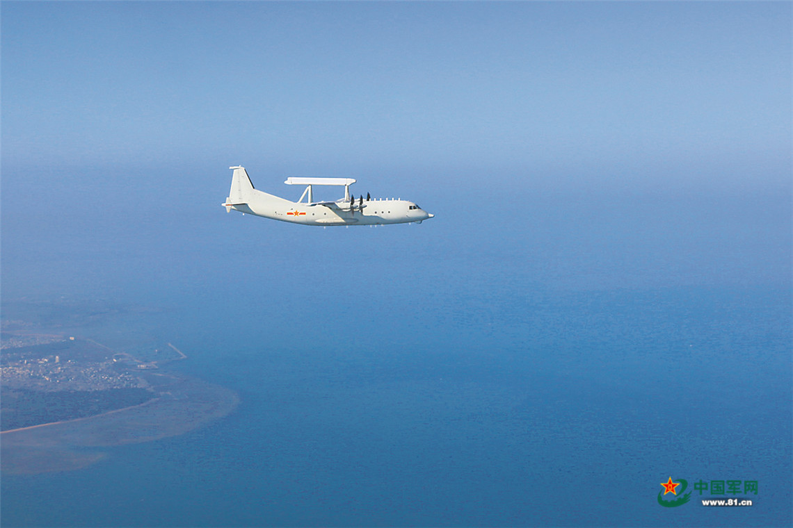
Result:
M6 474L78 469L107 454L86 448L180 435L239 402L231 390L164 372L186 359L170 343L132 355L88 338L10 329L0 343Z

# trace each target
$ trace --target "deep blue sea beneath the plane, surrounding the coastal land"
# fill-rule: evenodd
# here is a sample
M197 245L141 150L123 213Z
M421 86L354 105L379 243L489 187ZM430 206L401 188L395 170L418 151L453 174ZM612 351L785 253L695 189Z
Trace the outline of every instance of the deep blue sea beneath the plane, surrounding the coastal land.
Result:
M404 180L435 218L4 198L4 318L170 342L240 403L2 475L2 526L791 526L789 192Z

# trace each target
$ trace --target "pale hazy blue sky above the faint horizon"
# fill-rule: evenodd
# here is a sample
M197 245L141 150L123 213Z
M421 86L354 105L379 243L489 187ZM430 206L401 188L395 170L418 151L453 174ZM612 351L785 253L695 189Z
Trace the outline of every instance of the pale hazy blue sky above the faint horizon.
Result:
M195 160L542 179L671 163L760 166L780 184L791 161L787 2L2 9L11 168Z

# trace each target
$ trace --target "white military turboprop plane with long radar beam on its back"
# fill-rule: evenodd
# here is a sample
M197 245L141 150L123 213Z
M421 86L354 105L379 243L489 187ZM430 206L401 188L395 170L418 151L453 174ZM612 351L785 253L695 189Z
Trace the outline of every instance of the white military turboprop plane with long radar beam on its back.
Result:
M243 214L272 218L282 222L293 222L305 226L379 226L382 224L421 223L433 218L416 203L404 199L374 199L366 194L360 199L350 195L352 178L298 178L289 177L287 185L305 185L305 191L297 202L258 191L253 187L244 167L229 167L233 170L232 188L222 203L226 212L239 211ZM335 202L315 202L314 185L338 185L344 187L344 197ZM305 199L305 202L303 201Z

